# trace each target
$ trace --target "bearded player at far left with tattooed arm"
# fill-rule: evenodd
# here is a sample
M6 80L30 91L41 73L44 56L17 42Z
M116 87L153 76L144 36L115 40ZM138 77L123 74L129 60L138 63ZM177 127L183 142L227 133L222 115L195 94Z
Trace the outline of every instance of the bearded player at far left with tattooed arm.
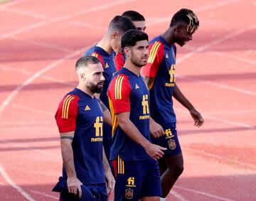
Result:
M100 60L85 56L77 61L75 72L78 86L65 95L55 114L63 177L53 191L60 192L60 201L107 200L105 178L110 189L114 188L114 178L102 154L103 112L95 98L103 89L104 70Z

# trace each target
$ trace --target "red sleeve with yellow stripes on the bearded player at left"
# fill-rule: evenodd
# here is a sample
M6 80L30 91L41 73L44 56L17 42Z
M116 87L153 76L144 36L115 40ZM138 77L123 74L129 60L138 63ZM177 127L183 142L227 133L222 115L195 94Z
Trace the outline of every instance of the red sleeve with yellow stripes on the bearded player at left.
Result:
M75 131L75 121L78 116L78 100L75 95L68 95L58 105L55 120L60 133Z

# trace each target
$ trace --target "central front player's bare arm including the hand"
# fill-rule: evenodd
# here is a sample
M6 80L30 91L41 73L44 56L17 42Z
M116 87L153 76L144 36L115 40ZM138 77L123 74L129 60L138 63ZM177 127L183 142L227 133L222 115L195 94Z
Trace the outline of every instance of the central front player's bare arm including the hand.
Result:
M149 142L137 129L137 127L129 119L129 112L122 112L117 114L117 121L121 129L129 138L139 143L146 151L146 153L154 160L159 160L164 155L166 148L158 146Z

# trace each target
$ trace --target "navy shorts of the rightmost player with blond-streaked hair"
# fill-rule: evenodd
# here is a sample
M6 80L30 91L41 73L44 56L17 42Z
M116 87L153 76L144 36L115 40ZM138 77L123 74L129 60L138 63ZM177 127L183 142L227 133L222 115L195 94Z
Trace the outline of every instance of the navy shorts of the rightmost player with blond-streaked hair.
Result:
M152 143L167 148L164 151L164 157L173 156L181 153L181 146L178 141L178 135L176 131L176 123L170 123L161 125L164 129L164 136L159 138L151 138Z

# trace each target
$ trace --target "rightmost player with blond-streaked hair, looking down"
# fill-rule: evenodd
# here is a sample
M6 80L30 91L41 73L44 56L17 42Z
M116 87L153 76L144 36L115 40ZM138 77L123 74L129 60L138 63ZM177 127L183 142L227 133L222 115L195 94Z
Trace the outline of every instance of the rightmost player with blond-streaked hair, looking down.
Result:
M188 109L195 126L203 125L201 114L181 93L175 82L175 43L183 46L192 40L198 26L199 21L193 11L181 9L175 13L170 27L161 36L151 40L148 64L142 68L142 75L150 92L151 116L165 131L164 136L152 138L153 143L167 148L164 157L159 160L163 197L168 195L183 172L183 156L178 142L172 97Z

